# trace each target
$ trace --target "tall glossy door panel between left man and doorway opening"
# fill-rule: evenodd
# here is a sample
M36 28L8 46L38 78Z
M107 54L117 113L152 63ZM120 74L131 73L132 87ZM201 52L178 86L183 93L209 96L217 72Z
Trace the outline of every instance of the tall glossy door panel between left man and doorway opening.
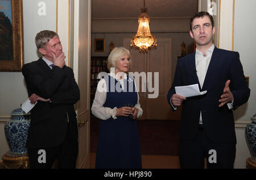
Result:
M79 154L76 168L90 168L90 41L91 1L73 1L74 73L80 89L76 104L79 126Z

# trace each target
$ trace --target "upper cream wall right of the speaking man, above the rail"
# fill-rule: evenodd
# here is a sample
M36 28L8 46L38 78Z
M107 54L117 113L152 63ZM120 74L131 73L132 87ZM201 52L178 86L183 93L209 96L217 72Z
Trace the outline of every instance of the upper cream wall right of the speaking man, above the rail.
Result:
M240 53L245 76L249 76L250 99L242 108L235 111L236 120L250 122L251 116L256 113L256 1L236 0L234 7L234 51ZM245 111L243 111L245 110Z

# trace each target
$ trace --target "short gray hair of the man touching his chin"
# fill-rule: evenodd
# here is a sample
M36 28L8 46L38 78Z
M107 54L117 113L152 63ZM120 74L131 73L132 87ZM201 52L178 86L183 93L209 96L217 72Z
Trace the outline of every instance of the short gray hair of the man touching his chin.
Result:
M40 31L35 37L36 47L38 49L45 48L49 40L51 40L53 37L59 38L59 35L54 31L49 31L49 30Z

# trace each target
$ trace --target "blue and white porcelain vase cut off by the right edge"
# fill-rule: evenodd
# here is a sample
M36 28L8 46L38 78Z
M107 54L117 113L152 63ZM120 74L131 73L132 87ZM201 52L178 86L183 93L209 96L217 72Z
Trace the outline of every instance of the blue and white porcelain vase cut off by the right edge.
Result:
M256 114L251 118L251 123L246 125L245 137L251 156L256 160Z

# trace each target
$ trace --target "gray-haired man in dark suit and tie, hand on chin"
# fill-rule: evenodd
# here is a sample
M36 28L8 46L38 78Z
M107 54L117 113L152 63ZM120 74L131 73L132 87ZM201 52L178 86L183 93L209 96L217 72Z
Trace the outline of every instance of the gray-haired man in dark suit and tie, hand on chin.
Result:
M77 120L73 104L80 99L73 70L65 66L59 36L41 31L35 38L43 57L25 64L22 73L34 104L27 136L30 168L75 168L78 152ZM42 160L44 155L45 160Z

